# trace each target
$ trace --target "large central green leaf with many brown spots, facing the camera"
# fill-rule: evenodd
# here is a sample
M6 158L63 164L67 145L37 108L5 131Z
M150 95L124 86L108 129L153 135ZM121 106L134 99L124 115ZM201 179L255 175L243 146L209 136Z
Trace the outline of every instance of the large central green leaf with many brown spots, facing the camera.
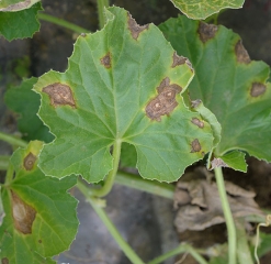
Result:
M193 69L154 24L139 26L115 7L105 14L103 30L79 36L67 72L49 72L35 85L38 116L56 136L39 166L46 175L100 182L112 169L111 146L126 142L143 177L176 180L213 144L211 125L181 96Z

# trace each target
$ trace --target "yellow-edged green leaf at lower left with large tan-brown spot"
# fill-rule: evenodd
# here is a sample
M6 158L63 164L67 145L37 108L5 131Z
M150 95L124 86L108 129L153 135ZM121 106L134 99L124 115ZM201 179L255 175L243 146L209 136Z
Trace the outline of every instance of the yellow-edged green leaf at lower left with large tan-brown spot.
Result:
M5 212L1 260L9 263L54 263L44 257L69 249L77 233L77 200L67 194L77 179L46 177L36 165L42 147L42 142L33 141L14 152L15 177L1 190Z

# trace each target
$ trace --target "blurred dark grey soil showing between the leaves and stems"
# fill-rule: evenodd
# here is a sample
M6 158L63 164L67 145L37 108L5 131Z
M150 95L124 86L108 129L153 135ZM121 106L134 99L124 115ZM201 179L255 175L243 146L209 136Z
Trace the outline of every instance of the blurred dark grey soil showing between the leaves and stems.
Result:
M98 16L94 0L53 1L44 0L46 12L95 31ZM139 24L159 24L178 10L169 0L112 0L112 4L128 10ZM271 3L270 0L247 0L240 10L228 10L221 14L218 23L233 29L242 37L242 43L252 59L262 59L271 65ZM26 76L41 76L49 69L64 72L71 55L76 34L60 26L42 22L41 32L32 40L7 42L0 37L0 130L16 131L15 118L3 103L3 94L9 84L19 84L15 65L25 61ZM29 58L25 59L25 57ZM10 154L11 148L0 142L0 154ZM225 169L225 178L257 193L260 207L271 209L271 165L255 158L248 160L248 174ZM2 173L3 175L3 173ZM81 201L78 216L81 222L78 237L69 252L58 256L58 263L110 263L128 264L118 246L100 223L92 209L74 190ZM205 248L226 240L225 226L217 224L201 232L187 231L177 234L173 227L172 201L146 193L115 186L108 197L106 211L125 240L144 258L153 257L176 248L179 241L189 241ZM267 229L268 230L268 229ZM271 253L261 263L270 263ZM174 260L165 262L174 263ZM183 263L196 263L189 256Z

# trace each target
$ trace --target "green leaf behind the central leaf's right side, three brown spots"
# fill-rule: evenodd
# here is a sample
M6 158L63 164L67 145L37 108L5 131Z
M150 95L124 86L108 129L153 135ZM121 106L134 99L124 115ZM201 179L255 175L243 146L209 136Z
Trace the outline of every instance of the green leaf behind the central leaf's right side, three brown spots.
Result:
M194 65L191 98L201 99L222 125L215 156L223 158L227 152L240 150L270 162L269 66L251 61L240 37L224 26L182 15L168 20L160 29L177 52ZM241 155L238 162L244 163Z

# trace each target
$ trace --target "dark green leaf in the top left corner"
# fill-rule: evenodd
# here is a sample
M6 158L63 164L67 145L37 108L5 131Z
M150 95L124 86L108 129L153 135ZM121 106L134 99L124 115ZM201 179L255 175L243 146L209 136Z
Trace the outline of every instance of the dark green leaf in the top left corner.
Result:
M39 30L37 12L42 10L39 2L18 12L0 12L0 34L8 41L32 37Z

